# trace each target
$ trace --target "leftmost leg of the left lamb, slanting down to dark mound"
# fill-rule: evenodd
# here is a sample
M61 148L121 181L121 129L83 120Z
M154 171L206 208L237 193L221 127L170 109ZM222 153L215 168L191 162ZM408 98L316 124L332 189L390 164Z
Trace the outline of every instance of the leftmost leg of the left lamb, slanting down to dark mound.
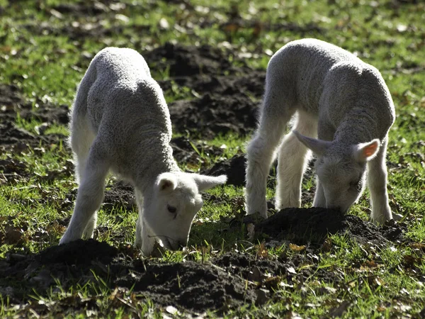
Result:
M108 157L105 152L101 151L99 143L95 141L79 184L74 213L72 213L71 221L60 244L80 239L83 235L85 237L93 235L94 223L96 223L94 215L103 201L108 169Z

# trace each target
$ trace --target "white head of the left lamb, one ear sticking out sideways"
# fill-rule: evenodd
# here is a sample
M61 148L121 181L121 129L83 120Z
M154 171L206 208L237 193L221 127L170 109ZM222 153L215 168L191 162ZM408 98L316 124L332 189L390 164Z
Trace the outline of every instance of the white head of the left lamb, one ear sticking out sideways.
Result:
M200 191L225 184L227 177L166 172L157 177L151 198L144 198L145 223L151 236L169 250L186 246L196 213L203 206Z

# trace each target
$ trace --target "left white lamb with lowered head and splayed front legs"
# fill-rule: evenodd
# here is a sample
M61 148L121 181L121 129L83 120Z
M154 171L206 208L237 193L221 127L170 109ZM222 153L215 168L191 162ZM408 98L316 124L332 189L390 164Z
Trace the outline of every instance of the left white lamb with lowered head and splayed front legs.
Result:
M199 192L227 180L181 172L169 145L162 89L132 49L108 47L94 57L77 91L70 130L79 189L60 244L93 236L110 169L134 186L135 246L145 255L156 240L169 250L186 245L203 205Z

